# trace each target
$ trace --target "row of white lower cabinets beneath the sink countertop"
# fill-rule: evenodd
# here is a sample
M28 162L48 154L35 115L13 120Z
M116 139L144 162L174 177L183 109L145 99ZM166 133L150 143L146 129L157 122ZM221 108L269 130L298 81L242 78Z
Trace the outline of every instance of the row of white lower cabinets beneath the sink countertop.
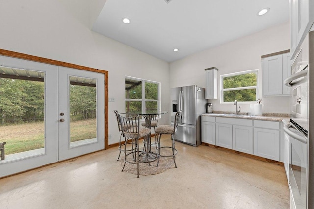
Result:
M281 122L202 116L202 142L289 163L289 142L282 139ZM283 148L280 148L283 145ZM288 150L289 151L289 150ZM283 155L283 156L281 156ZM288 175L288 173L287 173Z

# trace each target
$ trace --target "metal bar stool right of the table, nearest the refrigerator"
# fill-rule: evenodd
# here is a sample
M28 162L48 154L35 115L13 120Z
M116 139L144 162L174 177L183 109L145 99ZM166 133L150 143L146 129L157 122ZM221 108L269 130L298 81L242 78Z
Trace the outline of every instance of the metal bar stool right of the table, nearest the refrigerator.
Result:
M174 122L174 125L171 126L171 125L159 125L156 129L155 129L155 132L158 134L158 148L156 150L157 152L157 155L158 155L158 163L157 163L157 166L159 164L159 160L160 160L160 156L161 157L173 157L173 161L175 163L175 166L177 167L177 164L176 164L176 155L178 153L177 149L175 148L175 139L174 139L174 134L177 132L177 128L178 128L178 120L179 120L179 117L181 116L181 113L182 113L182 110L181 111L178 111L175 115L175 122ZM161 135L163 134L171 134L171 140L172 140L172 146L164 146L164 147L161 147L160 146L160 139L161 139ZM161 149L171 149L172 151L172 155L161 155Z

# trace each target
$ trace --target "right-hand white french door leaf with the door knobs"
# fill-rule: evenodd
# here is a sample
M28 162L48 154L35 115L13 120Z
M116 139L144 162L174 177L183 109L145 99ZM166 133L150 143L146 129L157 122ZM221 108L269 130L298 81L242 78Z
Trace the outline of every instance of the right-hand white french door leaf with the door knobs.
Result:
M104 74L59 67L58 86L59 160L104 149Z

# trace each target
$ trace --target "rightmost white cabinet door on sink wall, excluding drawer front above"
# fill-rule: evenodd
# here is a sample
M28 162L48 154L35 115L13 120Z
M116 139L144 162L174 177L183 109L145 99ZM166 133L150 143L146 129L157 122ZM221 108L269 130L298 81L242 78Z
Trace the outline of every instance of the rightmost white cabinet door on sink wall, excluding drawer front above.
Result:
M279 130L254 128L253 154L271 160L280 160Z

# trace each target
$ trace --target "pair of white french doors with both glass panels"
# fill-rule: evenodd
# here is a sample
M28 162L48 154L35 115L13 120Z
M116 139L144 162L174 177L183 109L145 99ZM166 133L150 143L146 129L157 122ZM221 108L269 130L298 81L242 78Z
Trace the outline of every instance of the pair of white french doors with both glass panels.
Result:
M0 56L0 177L104 149L104 74Z

